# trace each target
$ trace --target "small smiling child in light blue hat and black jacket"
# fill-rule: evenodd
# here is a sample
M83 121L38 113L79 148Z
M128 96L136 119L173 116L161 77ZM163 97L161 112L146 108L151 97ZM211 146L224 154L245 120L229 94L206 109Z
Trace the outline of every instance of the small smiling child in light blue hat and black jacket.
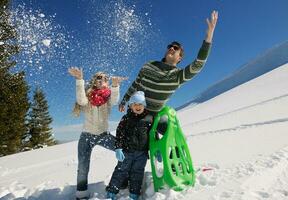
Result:
M116 199L116 194L125 180L129 179L129 197L137 200L141 193L145 165L148 158L149 131L152 116L145 110L144 92L138 91L131 96L129 109L117 127L115 152L118 159L109 185L107 198Z

